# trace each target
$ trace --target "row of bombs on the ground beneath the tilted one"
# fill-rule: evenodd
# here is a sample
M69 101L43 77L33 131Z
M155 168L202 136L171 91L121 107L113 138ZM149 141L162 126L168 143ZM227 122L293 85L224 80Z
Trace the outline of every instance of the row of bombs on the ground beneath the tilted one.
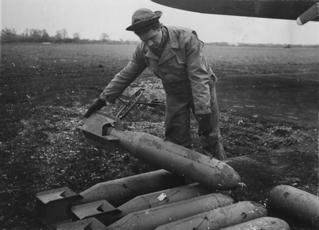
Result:
M231 191L212 191L199 183L177 186L182 183L158 170L98 183L80 194L55 189L36 194L38 211L56 230L207 230L237 225L289 230L284 221L266 217L261 204L234 203ZM168 186L176 187L165 189ZM146 193L152 190L157 191Z

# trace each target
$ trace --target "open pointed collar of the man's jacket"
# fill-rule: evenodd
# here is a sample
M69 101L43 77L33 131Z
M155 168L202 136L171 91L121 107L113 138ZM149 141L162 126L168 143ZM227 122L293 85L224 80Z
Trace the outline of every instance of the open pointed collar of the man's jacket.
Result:
M147 46L146 46L146 53L145 53L146 57L158 60L159 65L167 61L168 59L170 59L172 56L176 55L176 51L174 49L180 48L180 45L177 40L177 36L174 33L173 29L166 26L163 26L163 29L167 30L168 38L167 38L165 49L162 55L160 56L160 58L153 51L151 51Z

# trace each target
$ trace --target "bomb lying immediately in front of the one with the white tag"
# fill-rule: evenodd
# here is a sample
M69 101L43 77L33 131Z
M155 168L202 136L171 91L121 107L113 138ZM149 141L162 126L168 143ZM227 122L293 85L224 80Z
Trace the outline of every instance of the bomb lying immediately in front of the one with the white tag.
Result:
M208 194L130 213L107 226L107 230L154 230L160 225L233 203L234 200L226 195Z

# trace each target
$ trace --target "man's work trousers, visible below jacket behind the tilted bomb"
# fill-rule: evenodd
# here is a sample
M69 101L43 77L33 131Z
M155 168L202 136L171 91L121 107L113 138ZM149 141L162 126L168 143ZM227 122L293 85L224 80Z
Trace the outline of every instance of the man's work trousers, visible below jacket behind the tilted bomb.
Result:
M203 154L213 156L218 160L228 162L219 129L219 112L215 90L215 83L210 86L211 90L211 114L213 131L206 135L201 135ZM166 94L166 114L165 114L165 137L166 140L175 144L191 148L190 136L190 110L195 111L192 100L180 100L175 96Z

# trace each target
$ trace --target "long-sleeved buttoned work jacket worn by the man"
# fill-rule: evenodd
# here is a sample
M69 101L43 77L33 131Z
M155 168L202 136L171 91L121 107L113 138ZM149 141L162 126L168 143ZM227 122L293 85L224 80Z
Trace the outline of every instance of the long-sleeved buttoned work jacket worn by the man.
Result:
M166 97L179 101L193 100L196 114L211 112L210 85L216 77L203 54L203 42L195 31L167 26L168 40L159 58L144 42L140 42L128 65L108 83L100 98L115 102L116 98L146 67L162 81Z

